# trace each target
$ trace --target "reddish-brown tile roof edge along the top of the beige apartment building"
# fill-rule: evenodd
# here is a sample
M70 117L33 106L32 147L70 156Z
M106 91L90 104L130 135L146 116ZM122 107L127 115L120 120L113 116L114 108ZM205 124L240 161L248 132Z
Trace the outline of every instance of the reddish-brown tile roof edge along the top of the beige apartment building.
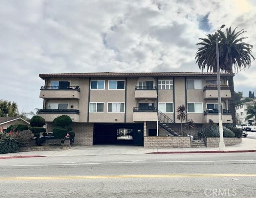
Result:
M39 77L140 77L140 76L213 76L217 73L203 72L96 72L96 73L48 73ZM234 73L221 73L222 76L234 76Z

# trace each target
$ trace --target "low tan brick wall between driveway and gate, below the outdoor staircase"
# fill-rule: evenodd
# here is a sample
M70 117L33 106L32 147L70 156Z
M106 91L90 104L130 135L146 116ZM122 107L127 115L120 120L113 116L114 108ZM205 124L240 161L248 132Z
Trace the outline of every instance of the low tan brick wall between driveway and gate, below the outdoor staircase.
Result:
M189 148L191 147L190 137L160 137L145 136L144 148Z

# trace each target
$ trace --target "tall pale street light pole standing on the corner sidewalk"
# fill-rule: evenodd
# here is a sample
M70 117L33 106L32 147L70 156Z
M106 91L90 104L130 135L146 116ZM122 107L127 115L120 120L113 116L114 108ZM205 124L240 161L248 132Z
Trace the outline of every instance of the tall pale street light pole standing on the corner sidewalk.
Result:
M220 27L220 30L224 28L225 25L222 25ZM220 150L225 150L225 143L223 139L223 126L222 126L222 108L221 108L221 97L220 97L220 57L219 57L219 41L218 41L218 36L219 32L216 36L216 60L217 60L217 87L218 87L218 115L219 115L219 131L220 131L220 143L219 143L219 149Z

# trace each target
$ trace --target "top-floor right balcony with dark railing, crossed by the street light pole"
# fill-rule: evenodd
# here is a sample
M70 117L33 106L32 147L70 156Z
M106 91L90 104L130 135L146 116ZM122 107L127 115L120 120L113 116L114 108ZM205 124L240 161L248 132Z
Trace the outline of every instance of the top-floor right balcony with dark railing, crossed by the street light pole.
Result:
M220 86L220 97L223 99L231 98L231 92L228 85ZM217 98L218 98L217 85L206 85L204 87L204 99L217 99Z

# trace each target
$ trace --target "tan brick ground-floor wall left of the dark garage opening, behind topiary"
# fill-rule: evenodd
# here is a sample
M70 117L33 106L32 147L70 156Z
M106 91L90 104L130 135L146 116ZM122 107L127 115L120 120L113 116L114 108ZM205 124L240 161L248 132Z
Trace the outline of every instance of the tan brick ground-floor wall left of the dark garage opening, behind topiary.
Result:
M47 131L52 131L53 123L47 123ZM75 133L74 145L92 146L93 144L93 123L73 123L72 128Z

